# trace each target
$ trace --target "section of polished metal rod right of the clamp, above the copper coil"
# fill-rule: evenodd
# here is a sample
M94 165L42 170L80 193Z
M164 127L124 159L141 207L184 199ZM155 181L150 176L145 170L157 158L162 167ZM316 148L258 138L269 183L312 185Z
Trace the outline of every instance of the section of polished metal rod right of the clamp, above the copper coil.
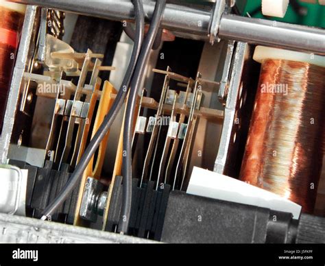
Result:
M219 38L325 55L325 30L265 19L223 15Z

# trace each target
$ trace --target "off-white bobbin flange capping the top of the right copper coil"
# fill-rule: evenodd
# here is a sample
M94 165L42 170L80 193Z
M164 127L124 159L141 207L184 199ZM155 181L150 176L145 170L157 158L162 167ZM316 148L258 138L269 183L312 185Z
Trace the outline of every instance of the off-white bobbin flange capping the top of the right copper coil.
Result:
M289 51L265 46L256 46L253 59L259 63L265 59L274 59L306 62L325 67L325 56L315 56L313 53L301 53L299 51Z

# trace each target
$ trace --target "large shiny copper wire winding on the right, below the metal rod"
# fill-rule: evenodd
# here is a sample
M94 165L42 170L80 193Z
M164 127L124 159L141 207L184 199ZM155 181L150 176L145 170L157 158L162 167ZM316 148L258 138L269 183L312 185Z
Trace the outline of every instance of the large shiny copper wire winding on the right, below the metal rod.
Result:
M322 171L324 76L325 68L304 62L263 61L241 165L241 180L305 213L313 212Z

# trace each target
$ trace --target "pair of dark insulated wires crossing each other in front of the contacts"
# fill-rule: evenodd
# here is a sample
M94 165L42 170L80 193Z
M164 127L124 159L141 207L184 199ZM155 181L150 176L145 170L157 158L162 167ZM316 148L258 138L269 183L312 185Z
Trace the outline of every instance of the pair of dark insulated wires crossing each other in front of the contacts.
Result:
M119 110L121 110L121 106L125 100L126 95L130 90L130 95L128 97L128 104L126 107L125 114L125 125L123 132L123 149L125 150L126 156L123 158L123 203L121 210L121 228L119 231L123 234L128 232L128 223L130 219L130 211L132 204L132 125L134 119L134 110L136 106L136 96L141 89L140 86L143 81L145 66L147 61L149 60L149 53L154 44L154 40L156 39L156 35L159 30L160 21L163 17L163 11L165 10L165 0L158 0L156 2L156 8L154 10L154 16L152 18L152 23L149 28L149 32L147 37L145 38L145 43L143 43L144 36L144 27L145 27L145 14L143 10L143 3L141 0L134 0L134 10L135 10L135 21L136 21L136 29L135 29L135 37L134 37L134 47L132 51L132 56L130 59L130 64L128 66L128 70L125 74L123 82L121 84L121 88L119 89L119 93L114 101L110 112L108 112L105 117L101 127L89 143L86 148L79 164L75 167L75 171L73 172L69 182L64 186L58 197L45 208L43 212L42 219L49 218L56 209L63 204L64 200L71 194L73 189L77 186L78 182L80 182L80 178L82 178L82 174L88 162L91 160L93 154L95 154L97 147L99 147L102 139L110 129L113 121L117 117ZM130 85L131 84L131 85ZM130 87L130 89L129 89ZM125 90L125 88L128 88Z

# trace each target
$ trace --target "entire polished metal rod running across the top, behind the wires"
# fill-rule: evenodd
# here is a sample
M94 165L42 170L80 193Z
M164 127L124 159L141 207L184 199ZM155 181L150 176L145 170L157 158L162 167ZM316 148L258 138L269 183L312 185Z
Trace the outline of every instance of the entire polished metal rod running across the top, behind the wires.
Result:
M79 14L99 16L105 19L122 21L133 20L134 8L130 0L10 0L16 3L40 5ZM154 12L154 1L143 3L147 17ZM206 12L195 8L168 3L163 16L162 27L165 29L192 34L192 36L208 36L213 21L212 10ZM241 16L224 14L221 16L219 38L229 38L243 42L270 45L325 54L325 31L313 27L291 25L267 21L265 19L251 19ZM194 38L194 37L193 37Z

